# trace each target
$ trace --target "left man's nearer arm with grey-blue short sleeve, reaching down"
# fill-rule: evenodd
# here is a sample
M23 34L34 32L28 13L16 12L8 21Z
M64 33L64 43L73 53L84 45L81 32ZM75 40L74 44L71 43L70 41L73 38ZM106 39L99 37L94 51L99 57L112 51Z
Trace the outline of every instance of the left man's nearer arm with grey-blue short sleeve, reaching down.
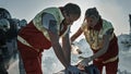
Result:
M64 65L64 67L68 67L70 63L66 59L62 48L59 44L59 35L58 35L58 29L57 29L57 21L55 20L53 15L51 14L46 14L43 16L43 26L47 29L51 46L53 48L53 51L59 59L59 61Z

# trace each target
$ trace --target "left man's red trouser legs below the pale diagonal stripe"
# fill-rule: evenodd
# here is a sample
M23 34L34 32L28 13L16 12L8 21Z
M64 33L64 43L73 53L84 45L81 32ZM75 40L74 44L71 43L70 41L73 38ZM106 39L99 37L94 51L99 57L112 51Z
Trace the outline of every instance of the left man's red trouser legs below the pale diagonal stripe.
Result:
M31 47L17 41L17 47L24 63L26 74L43 74L41 71L41 52L38 53Z

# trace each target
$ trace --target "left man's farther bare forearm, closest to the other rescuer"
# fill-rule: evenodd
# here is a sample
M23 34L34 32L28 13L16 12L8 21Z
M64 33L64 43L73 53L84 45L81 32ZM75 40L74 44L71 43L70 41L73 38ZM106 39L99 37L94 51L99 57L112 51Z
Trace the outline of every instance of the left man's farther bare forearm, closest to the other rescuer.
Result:
M69 32L62 37L62 50L68 63L71 63L71 46L69 39Z

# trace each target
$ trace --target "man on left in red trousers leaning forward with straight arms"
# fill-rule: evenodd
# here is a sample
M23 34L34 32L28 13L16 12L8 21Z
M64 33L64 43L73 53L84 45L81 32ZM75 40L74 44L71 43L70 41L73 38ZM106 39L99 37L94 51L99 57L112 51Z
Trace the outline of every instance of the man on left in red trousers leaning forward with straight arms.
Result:
M70 63L70 26L81 15L78 4L68 3L60 8L47 8L39 12L17 36L17 47L26 74L43 74L41 52L53 48L66 72L79 74L78 67ZM62 38L62 47L59 44ZM46 66L44 66L46 67ZM50 66L51 67L51 66Z

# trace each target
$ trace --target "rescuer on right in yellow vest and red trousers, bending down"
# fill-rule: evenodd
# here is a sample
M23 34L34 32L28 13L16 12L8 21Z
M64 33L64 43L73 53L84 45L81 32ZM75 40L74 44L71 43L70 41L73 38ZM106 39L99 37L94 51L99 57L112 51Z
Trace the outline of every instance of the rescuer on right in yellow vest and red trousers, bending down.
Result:
M85 20L79 30L71 37L73 42L82 33L93 50L93 55L84 58L80 62L87 65L93 60L100 74L106 67L106 74L117 74L118 69L118 42L110 22L100 17L96 8L91 8L85 13Z

